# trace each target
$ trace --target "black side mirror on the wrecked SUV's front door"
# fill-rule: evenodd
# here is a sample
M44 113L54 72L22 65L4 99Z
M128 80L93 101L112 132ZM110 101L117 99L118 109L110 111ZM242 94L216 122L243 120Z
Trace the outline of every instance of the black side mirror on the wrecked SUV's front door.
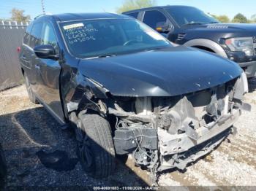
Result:
M54 47L49 44L34 47L34 53L38 58L48 58L53 60L59 59L59 56L56 55Z

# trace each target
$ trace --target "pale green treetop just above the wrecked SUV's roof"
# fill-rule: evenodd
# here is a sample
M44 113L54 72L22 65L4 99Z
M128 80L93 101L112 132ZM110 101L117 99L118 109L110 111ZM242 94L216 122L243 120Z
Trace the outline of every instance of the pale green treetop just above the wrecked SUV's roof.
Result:
M116 12L121 13L132 9L153 7L155 5L155 0L125 0L121 7L118 7L118 9L116 9Z

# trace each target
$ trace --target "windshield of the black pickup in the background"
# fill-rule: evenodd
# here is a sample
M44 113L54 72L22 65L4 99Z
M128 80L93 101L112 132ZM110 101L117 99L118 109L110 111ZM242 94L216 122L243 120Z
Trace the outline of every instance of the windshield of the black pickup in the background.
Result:
M178 26L188 24L219 23L214 17L195 7L170 7L166 9Z

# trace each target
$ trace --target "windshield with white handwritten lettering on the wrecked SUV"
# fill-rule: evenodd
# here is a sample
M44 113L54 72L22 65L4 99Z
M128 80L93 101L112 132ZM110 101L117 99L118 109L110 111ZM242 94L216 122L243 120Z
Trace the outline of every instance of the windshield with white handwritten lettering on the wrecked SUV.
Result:
M78 58L172 46L162 35L134 19L80 20L60 25L69 51Z

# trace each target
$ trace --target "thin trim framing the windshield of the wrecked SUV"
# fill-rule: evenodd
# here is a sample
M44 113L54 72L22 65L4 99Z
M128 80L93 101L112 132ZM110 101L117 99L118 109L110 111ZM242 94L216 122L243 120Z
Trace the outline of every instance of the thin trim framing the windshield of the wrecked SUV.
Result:
M61 23L77 22L77 21L84 21L84 20L135 20L135 21L137 21L138 23L141 23L141 24L147 26L145 23L141 22L140 20L136 20L136 19L134 19L134 18L132 18L132 17L122 17L122 18L120 18L120 17L111 17L111 18L90 18L90 19L82 19L82 20L65 20L65 21L58 21L58 22L57 22L57 25L58 25L58 27L59 27L59 31L61 32L62 41L64 42L64 45L65 45L65 47L66 47L67 52L69 52L69 55L72 55L72 57L78 58L78 59L95 59L95 58L99 58L99 57L98 57L98 56L83 57L83 56L74 55L74 54L69 50L69 46L68 46L68 44L67 44L67 41L66 41L66 39L65 39L65 37L64 37L64 34L63 34L63 31L62 31L62 29L61 29ZM154 31L154 29L152 29L151 27L148 26L148 28L150 28L152 31ZM154 31L154 32L157 33L157 31ZM161 34L159 34L159 35L161 35ZM170 42L167 38L165 38L165 36L162 36L162 38L165 39L165 41L166 41L170 46L173 46L173 43ZM166 45L166 46L154 47L154 48L152 48L150 51L152 51L152 50L157 50L157 49L159 49L159 47L165 48L165 47L167 47L167 45ZM115 55L113 55L113 56L127 55L127 54L132 54L132 53L137 53L137 52L144 52L144 51L146 51L146 50L148 50L148 49L141 49L141 50L136 50L136 51L132 51L132 52L131 52L131 51L127 51L127 53L115 54ZM111 53L111 54L112 54L112 53ZM114 53L113 53L113 54L114 54Z

